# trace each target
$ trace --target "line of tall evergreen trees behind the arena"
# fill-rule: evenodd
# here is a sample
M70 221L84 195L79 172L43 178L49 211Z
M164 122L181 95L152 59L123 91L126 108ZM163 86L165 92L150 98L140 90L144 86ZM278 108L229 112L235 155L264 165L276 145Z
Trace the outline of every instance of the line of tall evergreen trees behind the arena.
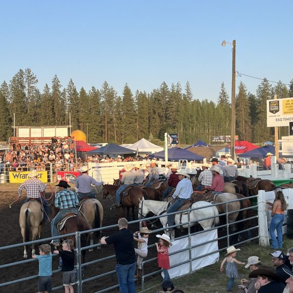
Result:
M256 93L239 84L236 95L236 134L240 140L261 143L272 140L273 127L267 127L266 100L293 97L293 80L287 87L263 79ZM61 126L80 129L89 143L134 143L145 137L164 140L164 133L178 133L181 144L197 140L211 143L212 136L230 135L231 105L225 84L221 84L217 103L194 99L187 82L168 86L165 82L150 93L135 91L126 84L122 96L107 82L100 89L77 90L70 79L66 87L57 75L51 84L38 88L37 76L30 68L20 69L9 84L0 86L0 140L13 135L16 126ZM288 135L288 127L279 127Z

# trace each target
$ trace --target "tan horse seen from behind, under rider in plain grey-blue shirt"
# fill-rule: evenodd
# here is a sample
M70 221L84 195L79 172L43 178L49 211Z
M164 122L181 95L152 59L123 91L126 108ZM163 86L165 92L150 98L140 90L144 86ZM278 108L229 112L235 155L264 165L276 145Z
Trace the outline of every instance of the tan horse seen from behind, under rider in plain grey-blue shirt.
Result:
M102 227L104 209L100 201L98 201L95 198L87 198L82 202L82 205L79 208L79 210L84 215L84 218L86 219L90 229ZM95 234L98 243L100 243L102 234L101 230L90 233L90 245L94 244L93 234Z

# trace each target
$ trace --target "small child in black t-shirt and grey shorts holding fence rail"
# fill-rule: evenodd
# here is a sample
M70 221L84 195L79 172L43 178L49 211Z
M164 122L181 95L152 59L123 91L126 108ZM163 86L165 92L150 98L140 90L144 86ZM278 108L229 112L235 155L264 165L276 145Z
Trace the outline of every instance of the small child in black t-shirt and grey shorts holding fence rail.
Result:
M73 241L66 239L62 242L63 251L53 251L62 258L63 286L65 293L73 293L75 284Z

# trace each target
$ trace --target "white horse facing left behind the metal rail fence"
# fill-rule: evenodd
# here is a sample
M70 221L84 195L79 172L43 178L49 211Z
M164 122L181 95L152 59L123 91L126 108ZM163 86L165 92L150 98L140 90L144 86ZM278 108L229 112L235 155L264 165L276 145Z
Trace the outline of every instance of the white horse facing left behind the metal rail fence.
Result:
M149 212L152 212L155 215L160 215L160 214L167 215L167 213L166 213L167 207L168 207L168 202L160 202L160 201L156 201L156 200L139 200L138 218L141 219L142 217L146 217L146 215ZM195 210L190 211L190 222L192 221L192 223L190 223L190 227L194 226L196 224L196 222L198 222L204 230L208 230L208 229L214 227L215 225L219 224L219 217L214 217L211 219L199 221L200 219L204 219L204 218L208 218L208 217L212 217L212 216L217 216L219 214L218 209L215 206L213 206L211 203L208 203L205 201L198 201L198 202L192 204L191 209L200 208L200 207L206 207L206 208L195 209ZM163 228L166 228L167 217L161 217L160 221L161 221ZM174 221L175 221L175 225L179 225L180 223L187 223L188 222L188 214L183 213L182 219L180 221L180 213L178 213L178 214L176 214ZM188 228L188 224L178 226L177 229L180 229L180 227L183 227L186 229L186 228ZM165 233L167 233L166 230L165 230ZM169 234L170 234L171 239L174 239L175 231L172 230L171 233L169 233Z

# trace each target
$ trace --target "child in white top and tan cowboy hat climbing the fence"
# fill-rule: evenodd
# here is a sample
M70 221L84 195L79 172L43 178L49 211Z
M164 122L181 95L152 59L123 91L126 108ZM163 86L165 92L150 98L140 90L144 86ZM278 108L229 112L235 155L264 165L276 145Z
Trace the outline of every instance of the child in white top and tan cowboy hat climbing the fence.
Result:
M151 230L148 230L147 227L142 227L140 231L133 233L133 239L137 241L137 248L135 248L135 253L137 254L137 274L135 278L142 277L142 261L147 256L147 241L148 234L151 233ZM138 235L138 238L136 237Z

